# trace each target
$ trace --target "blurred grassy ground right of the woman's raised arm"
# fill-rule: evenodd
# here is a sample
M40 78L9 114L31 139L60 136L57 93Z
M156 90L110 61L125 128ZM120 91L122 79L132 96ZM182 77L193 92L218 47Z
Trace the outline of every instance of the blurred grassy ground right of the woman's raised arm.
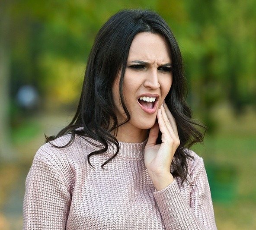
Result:
M214 111L217 132L194 150L204 158L218 230L256 229L256 114ZM217 179L217 180L216 180Z

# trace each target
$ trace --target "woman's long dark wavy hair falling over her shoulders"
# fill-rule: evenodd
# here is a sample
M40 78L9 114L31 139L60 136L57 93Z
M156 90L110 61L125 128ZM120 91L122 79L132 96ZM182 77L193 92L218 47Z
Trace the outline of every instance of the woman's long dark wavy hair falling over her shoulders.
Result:
M176 161L173 162L174 170L172 174L173 176L180 176L184 181L188 175L187 159L192 158L186 148L190 148L196 142L202 142L203 135L195 128L195 125L201 125L191 119L192 112L185 101L187 87L179 46L170 27L154 11L141 9L122 10L110 17L102 26L96 35L87 61L77 112L67 127L62 129L56 136L46 139L47 142L50 142L62 135L71 134L70 141L64 146L56 146L57 148L65 148L71 145L76 135L90 137L102 143L102 148L88 155L89 164L92 155L106 152L108 146L112 144L116 145L117 151L102 164L102 167L116 157L119 151L119 144L115 138L118 126L130 120L130 114L125 106L122 94L128 53L134 37L141 32L161 35L170 48L173 64L173 83L165 102L176 119L180 139L179 148L175 153ZM127 116L126 121L122 124L118 124L112 96L112 85L120 72L119 93L122 107ZM83 127L83 129L78 129L80 127ZM157 142L160 143L160 140L161 133L159 133Z

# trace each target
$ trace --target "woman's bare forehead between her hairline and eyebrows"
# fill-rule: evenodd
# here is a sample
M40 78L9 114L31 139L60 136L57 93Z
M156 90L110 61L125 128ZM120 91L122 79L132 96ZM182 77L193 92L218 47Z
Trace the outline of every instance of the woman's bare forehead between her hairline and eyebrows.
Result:
M170 47L161 35L142 32L136 35L131 43L128 61L134 59L170 62L170 57Z

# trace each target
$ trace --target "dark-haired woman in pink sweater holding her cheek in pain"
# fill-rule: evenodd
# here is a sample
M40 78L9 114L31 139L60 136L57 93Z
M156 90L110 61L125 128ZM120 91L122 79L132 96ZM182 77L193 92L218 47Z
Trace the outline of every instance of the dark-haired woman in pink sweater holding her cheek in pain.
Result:
M216 229L176 40L124 10L91 50L77 113L35 155L24 229Z

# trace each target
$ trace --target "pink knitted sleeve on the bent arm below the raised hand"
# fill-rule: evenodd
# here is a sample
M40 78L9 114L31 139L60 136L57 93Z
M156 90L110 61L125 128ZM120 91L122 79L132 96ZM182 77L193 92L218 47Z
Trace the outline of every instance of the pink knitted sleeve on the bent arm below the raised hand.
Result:
M203 159L199 158L190 176L190 204L182 196L176 180L161 191L154 192L167 230L216 230L210 187ZM186 183L186 182L184 182Z

